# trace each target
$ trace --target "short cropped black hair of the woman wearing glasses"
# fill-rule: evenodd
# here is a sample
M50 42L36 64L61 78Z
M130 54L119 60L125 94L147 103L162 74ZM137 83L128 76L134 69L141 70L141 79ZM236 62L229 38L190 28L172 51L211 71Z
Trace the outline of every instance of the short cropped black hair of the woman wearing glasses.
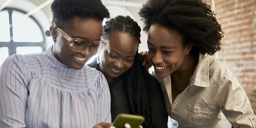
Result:
M108 9L101 0L54 0L51 5L52 25L61 29L71 28L74 16L95 16L103 21L109 18Z

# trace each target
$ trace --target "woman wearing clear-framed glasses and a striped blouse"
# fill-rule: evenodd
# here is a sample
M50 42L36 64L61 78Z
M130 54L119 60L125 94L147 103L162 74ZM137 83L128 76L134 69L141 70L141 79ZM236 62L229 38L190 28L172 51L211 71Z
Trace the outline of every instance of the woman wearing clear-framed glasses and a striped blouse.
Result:
M1 65L0 127L111 127L108 83L85 65L107 44L101 34L108 10L101 0L54 0L51 10L54 44Z

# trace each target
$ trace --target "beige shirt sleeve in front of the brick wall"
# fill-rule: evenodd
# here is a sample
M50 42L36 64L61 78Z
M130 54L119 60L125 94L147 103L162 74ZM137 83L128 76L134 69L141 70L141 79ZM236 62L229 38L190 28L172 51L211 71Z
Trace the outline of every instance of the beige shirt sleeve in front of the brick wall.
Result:
M251 103L231 72L222 80L217 100L223 114L234 128L256 128L256 116Z

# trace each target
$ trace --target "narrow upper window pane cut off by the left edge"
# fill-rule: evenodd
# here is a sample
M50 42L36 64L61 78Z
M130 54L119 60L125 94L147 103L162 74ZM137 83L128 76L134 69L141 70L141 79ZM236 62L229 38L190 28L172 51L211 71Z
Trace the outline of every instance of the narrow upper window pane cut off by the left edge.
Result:
M0 12L0 42L10 41L10 23L8 10Z

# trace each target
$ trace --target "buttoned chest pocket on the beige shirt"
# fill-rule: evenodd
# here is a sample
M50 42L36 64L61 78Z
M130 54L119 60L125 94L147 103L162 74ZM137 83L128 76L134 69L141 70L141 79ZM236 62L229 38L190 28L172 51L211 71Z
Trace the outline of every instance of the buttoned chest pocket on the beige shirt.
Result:
M208 118L208 109L208 106L189 102L186 120L189 123L202 123Z

